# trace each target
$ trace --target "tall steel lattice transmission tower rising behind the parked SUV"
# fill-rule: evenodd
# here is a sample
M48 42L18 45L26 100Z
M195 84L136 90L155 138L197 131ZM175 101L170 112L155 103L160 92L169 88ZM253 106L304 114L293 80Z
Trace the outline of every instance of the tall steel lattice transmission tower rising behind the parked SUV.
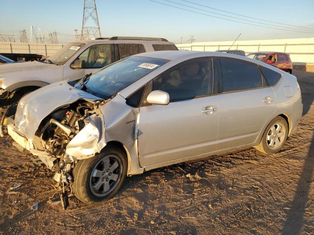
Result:
M90 21L88 22L88 20ZM101 38L100 26L98 21L96 0L84 0L83 23L81 31L81 39Z

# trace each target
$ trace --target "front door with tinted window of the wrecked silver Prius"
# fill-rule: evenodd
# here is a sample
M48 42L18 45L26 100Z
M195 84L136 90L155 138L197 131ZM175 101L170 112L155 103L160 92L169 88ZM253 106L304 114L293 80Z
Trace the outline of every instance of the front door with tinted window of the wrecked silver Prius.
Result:
M141 166L216 150L219 104L212 84L208 57L184 62L153 80L152 90L167 92L170 103L140 107Z

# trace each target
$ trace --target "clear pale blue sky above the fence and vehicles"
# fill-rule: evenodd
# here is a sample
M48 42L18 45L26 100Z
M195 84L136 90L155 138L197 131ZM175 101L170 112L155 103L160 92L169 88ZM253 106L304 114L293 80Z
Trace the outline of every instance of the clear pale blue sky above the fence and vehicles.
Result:
M240 16L216 11L183 0L171 1L206 11L188 8L166 0L156 1L230 20L238 21L234 18L215 15L206 11L243 19ZM194 36L195 42L233 41L239 33L241 33L239 40L314 37L314 0L189 1L235 14L282 23L281 26L285 27L293 26L283 24L312 28L313 32L292 32L241 24L184 11L150 0L96 0L102 37L163 37L175 43L180 43L181 37L183 37L182 42L187 43L191 35ZM66 43L74 41L74 29L78 29L78 32L81 31L82 17L83 0L0 0L0 36L14 34L16 39L19 40L19 31L26 29L29 39L30 25L33 25L36 31L39 27L43 31L45 29L49 32L56 31L58 41ZM250 18L244 19L258 21ZM305 28L301 29L304 30Z

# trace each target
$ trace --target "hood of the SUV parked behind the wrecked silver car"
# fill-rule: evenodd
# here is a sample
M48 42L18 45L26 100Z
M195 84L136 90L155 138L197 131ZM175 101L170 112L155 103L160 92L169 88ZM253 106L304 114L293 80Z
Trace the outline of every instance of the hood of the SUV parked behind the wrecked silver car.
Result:
M14 71L30 71L42 70L48 67L55 67L56 65L42 63L38 61L24 62L24 63L6 63L0 67L0 75Z

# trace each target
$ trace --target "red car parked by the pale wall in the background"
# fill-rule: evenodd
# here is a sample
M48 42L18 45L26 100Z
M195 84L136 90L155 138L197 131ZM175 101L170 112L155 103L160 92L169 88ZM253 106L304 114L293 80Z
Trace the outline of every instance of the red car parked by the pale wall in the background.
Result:
M290 74L292 73L292 62L290 56L287 53L260 51L250 53L247 55L247 57L275 66L278 69L286 71Z

